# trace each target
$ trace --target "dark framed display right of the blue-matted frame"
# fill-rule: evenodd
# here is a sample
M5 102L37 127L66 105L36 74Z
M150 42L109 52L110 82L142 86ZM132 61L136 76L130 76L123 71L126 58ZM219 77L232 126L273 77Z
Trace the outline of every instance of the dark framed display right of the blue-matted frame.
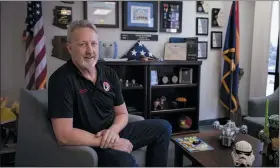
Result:
M182 32L182 1L160 2L160 32L181 33Z

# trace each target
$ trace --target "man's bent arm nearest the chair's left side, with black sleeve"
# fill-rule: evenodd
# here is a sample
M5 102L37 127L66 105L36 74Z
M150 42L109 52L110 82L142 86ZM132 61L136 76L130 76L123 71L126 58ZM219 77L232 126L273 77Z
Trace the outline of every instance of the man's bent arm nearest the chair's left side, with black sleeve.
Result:
M56 139L61 145L100 146L102 137L73 127L73 105L76 91L61 74L49 79L48 110Z

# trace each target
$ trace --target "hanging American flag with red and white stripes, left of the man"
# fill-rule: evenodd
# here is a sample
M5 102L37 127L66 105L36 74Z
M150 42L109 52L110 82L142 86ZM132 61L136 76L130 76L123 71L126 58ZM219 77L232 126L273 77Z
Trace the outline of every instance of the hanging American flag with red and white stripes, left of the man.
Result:
M27 27L25 40L25 87L29 90L46 88L47 60L44 38L42 3L29 1L27 4Z

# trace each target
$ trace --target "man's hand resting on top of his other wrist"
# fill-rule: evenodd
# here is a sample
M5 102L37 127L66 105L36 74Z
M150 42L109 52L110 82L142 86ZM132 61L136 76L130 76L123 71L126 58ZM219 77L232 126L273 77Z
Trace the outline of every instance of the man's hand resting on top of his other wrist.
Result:
M96 134L96 137L100 136L102 136L100 148L111 148L120 138L119 134L110 129L102 130Z

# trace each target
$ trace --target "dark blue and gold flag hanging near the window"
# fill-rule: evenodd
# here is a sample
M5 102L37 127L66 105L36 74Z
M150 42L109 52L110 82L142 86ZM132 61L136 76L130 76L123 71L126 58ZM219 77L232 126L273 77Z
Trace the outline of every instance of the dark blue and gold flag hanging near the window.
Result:
M239 2L233 1L224 42L224 67L220 88L220 102L232 113L239 108L239 39Z

